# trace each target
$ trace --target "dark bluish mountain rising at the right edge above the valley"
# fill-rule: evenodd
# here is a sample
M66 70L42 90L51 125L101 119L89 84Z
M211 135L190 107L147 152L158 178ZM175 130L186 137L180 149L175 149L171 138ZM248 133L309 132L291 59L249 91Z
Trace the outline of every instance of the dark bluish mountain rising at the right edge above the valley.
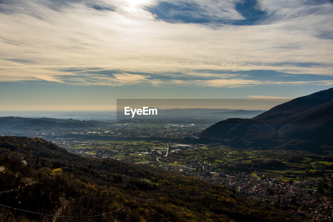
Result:
M199 136L238 148L300 149L322 152L333 146L333 88L299 97L253 118L229 118Z

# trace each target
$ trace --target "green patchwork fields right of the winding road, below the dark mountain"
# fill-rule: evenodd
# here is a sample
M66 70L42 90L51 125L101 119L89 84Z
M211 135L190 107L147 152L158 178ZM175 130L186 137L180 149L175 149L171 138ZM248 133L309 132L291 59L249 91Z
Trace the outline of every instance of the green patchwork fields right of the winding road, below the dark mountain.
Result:
M209 146L175 152L172 161L200 163L211 172L242 172L248 175L270 175L295 182L303 179L328 178L333 172L333 158L305 151L241 150L227 146ZM163 159L162 159L163 160ZM170 161L170 160L169 160Z

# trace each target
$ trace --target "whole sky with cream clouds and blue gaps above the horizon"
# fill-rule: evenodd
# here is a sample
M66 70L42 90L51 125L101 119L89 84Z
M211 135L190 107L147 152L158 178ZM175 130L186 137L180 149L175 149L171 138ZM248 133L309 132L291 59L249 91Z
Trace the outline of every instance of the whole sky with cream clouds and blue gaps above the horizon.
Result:
M333 87L332 17L321 0L0 0L0 110L308 95Z

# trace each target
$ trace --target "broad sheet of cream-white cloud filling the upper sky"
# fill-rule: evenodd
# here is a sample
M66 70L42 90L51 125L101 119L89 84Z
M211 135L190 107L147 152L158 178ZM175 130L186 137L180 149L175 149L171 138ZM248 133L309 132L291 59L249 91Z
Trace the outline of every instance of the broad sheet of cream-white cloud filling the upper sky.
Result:
M184 1L171 3L182 7ZM235 2L213 3L191 1L201 11L188 13L198 18L245 19ZM150 1L147 7L159 4ZM91 86L332 85L316 77L333 73L329 2L258 1L256 7L269 16L250 26L167 22L144 5L129 7L125 1L112 0L17 0L1 1L0 7L0 19L6 21L0 27L0 81ZM321 33L325 35L318 37ZM66 71L72 67L78 71ZM106 70L117 71L100 74ZM237 73L252 70L313 78L274 82Z

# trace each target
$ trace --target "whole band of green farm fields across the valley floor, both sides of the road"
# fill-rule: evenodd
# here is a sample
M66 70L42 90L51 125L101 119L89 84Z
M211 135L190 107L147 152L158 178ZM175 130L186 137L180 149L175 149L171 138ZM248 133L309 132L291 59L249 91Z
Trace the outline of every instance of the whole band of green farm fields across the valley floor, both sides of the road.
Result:
M149 164L186 166L188 169L210 172L242 172L247 175L270 175L283 181L328 178L333 173L333 158L305 151L244 150L209 144L191 149L172 150L168 155L158 153L167 143L153 141L89 140L88 144L63 144L67 150L94 158L116 158L122 161ZM151 152L141 155L142 152ZM154 151L155 150L155 151ZM158 161L158 160L159 161ZM180 168L179 168L180 167Z

